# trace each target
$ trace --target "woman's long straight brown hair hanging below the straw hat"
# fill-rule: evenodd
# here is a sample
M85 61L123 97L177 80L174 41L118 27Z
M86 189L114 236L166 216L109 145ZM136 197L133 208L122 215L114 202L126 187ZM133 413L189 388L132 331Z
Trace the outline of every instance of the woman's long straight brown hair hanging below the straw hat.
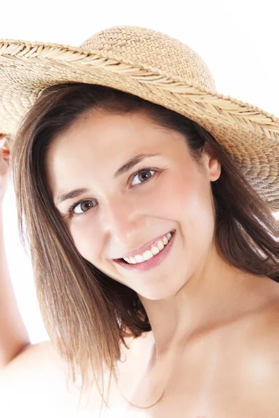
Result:
M184 135L199 164L204 145L220 160L220 178L211 183L216 208L216 242L238 268L278 281L278 222L269 206L243 177L233 158L214 137L188 118L134 95L90 84L46 88L22 121L12 148L13 182L23 245L31 250L40 310L50 339L66 357L82 392L89 370L98 386L106 366L110 378L124 337L151 330L135 291L107 277L86 261L73 244L47 189L45 153L58 134L93 109L112 114L145 111L163 127ZM23 230L23 217L26 232Z

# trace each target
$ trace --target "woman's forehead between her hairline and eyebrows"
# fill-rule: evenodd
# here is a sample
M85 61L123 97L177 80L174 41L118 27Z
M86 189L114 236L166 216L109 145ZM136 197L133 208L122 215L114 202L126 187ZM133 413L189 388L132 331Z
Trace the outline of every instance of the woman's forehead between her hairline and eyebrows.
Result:
M61 189L62 183L68 186L69 180L78 181L82 173L91 180L98 178L100 171L111 177L123 162L138 153L174 157L179 138L183 138L179 132L161 127L143 112L112 115L91 111L50 146L46 154L47 178L52 189Z

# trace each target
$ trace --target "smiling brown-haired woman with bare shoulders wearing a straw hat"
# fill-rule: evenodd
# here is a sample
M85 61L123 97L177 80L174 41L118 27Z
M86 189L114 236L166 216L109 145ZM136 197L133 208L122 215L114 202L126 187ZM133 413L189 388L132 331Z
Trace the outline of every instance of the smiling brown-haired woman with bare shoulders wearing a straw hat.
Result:
M0 50L52 341L2 381L47 350L75 394L93 390L80 413L104 398L113 416L278 417L278 119L216 93L195 52L147 29Z

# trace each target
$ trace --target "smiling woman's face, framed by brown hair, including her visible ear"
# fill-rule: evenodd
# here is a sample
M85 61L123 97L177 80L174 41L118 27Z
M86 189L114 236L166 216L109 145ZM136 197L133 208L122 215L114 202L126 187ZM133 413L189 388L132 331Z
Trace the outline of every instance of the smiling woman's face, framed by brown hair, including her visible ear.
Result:
M198 168L179 132L144 113L91 111L57 137L46 162L75 247L108 276L159 300L205 262L214 231L210 182L220 176L220 163L206 152ZM58 202L75 189L84 191Z

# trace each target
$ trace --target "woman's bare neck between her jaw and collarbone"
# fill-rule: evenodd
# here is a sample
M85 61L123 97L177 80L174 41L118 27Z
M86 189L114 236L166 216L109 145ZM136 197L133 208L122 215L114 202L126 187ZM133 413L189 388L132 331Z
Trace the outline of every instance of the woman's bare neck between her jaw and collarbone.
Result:
M252 309L248 297L258 283L259 277L229 264L214 247L204 265L175 295L164 300L140 296L151 323L156 355L172 351L193 334L231 322L243 310L248 312Z

